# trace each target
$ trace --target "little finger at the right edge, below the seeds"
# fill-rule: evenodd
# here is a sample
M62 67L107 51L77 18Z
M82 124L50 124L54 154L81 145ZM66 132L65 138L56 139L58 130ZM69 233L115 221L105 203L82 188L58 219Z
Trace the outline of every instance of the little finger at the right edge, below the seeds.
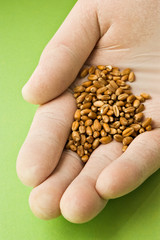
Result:
M126 152L105 168L96 183L103 199L123 196L160 167L160 128L136 137Z

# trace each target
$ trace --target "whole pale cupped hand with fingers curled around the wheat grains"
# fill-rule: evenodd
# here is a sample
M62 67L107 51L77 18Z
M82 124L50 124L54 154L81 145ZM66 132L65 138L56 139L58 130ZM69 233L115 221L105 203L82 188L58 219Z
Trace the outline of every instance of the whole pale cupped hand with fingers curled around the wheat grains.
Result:
M44 49L23 88L24 99L40 106L17 161L19 178L34 187L29 203L39 218L62 213L71 222L89 221L108 199L129 193L159 169L159 12L159 0L80 0ZM67 89L84 82L76 79L84 64L131 68L133 94L151 95L143 113L154 128L138 135L123 154L119 142L99 145L85 165L64 150L76 110Z

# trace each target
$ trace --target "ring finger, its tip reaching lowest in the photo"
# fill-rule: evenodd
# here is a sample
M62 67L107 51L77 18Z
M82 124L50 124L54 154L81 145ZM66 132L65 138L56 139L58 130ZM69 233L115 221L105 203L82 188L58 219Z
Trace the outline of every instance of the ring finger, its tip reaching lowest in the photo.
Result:
M114 151L113 151L114 149ZM60 208L62 215L71 222L83 223L94 218L106 205L95 185L100 172L121 154L121 144L112 142L99 146L64 192Z

